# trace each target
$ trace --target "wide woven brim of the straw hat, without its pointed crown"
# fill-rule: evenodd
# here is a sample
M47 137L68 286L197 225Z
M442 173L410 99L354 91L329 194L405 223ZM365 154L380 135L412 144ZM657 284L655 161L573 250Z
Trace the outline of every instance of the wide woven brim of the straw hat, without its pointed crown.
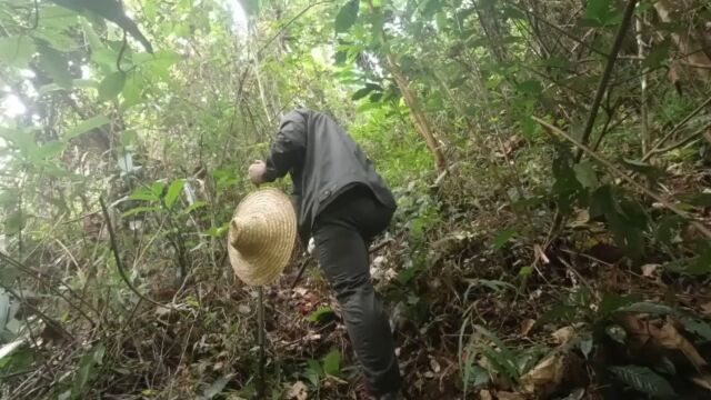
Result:
M228 252L237 277L250 286L273 282L283 272L291 259L297 239L297 216L289 198L279 189L261 189L248 194L234 210L236 217L260 214L266 224L267 238L258 251L243 253L230 244ZM230 224L230 234L232 233Z

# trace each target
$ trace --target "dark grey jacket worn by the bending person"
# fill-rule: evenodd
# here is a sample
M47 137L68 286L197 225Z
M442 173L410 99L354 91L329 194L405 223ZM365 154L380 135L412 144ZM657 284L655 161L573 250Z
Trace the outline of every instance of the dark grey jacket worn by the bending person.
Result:
M353 184L364 184L383 206L395 208L390 189L360 147L318 111L300 109L282 118L263 180L271 182L287 172L293 181L302 241L311 237L318 213Z

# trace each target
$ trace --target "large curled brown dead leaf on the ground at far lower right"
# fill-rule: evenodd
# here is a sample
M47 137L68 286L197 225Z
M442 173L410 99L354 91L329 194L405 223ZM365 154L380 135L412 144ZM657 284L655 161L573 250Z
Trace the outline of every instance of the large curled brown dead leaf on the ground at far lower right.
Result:
M701 367L707 364L707 361L699 354L699 351L689 339L679 333L670 321L647 321L628 314L622 316L619 322L639 347L651 343L664 349L679 350L697 370L701 370Z

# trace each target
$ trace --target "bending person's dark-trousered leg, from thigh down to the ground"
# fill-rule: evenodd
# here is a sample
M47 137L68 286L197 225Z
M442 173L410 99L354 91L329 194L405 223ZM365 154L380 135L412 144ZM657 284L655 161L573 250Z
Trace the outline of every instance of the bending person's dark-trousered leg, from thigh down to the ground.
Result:
M369 254L360 230L330 208L317 218L319 262L343 311L346 328L373 394L400 390L394 342L370 282Z

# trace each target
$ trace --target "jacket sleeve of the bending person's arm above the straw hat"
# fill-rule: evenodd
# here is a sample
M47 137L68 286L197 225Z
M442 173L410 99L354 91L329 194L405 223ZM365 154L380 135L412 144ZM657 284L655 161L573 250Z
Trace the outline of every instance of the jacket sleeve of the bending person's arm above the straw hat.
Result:
M303 116L292 111L284 117L267 158L267 171L262 177L264 182L273 182L277 178L282 178L301 161L306 150L306 133Z

